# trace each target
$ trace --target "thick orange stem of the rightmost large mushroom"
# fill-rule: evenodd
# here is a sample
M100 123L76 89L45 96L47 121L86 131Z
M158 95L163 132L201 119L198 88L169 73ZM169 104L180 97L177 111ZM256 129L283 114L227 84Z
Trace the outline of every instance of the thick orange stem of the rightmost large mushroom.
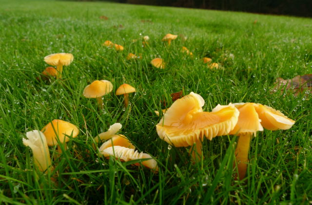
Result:
M252 137L251 133L241 134L235 150L235 159L238 168L238 175L236 174L235 180L242 180L245 178L248 163L249 143ZM235 163L234 163L235 167Z

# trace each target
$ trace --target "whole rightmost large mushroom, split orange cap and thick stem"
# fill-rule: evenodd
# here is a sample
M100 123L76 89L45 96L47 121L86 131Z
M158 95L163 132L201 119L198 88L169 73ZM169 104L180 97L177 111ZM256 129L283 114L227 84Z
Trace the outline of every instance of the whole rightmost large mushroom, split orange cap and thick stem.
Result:
M229 134L237 134L239 140L235 150L238 168L238 179L244 179L247 171L249 145L256 131L263 127L269 130L290 129L295 121L287 118L280 111L272 107L256 103L235 103L239 111L238 122Z

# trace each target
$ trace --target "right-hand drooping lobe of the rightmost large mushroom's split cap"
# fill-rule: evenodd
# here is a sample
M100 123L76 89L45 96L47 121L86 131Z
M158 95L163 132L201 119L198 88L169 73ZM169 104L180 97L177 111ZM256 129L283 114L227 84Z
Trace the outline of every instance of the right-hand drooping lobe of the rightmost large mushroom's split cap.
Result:
M256 103L235 103L234 105L238 108L245 104L251 104L254 106L255 111L261 120L261 125L268 130L290 129L295 123L295 121L289 119L280 111L266 105Z

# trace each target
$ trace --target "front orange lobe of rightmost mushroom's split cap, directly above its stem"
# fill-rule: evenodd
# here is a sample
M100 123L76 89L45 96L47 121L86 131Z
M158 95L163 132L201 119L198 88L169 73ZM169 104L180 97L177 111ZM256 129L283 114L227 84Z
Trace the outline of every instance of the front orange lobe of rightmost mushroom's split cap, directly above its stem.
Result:
M263 131L261 120L251 103L239 106L237 109L239 111L238 121L229 135L254 134L255 136L257 131Z

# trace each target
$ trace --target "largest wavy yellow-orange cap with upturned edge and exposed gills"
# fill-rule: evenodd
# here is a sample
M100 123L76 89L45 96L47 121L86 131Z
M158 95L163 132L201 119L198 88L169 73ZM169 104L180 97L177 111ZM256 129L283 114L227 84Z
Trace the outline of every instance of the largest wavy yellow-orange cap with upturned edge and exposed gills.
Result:
M176 147L193 145L204 136L209 140L234 129L239 112L233 104L217 105L203 112L204 99L193 92L176 100L156 125L158 136Z

